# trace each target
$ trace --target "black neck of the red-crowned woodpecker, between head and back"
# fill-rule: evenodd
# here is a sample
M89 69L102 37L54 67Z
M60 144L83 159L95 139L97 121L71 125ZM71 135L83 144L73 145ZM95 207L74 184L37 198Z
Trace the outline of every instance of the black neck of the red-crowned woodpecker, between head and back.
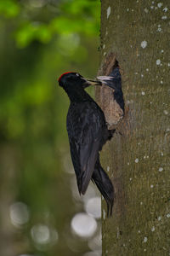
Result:
M91 96L88 95L88 93L83 88L67 88L66 90L67 95L69 96L71 102L92 102L93 99Z

